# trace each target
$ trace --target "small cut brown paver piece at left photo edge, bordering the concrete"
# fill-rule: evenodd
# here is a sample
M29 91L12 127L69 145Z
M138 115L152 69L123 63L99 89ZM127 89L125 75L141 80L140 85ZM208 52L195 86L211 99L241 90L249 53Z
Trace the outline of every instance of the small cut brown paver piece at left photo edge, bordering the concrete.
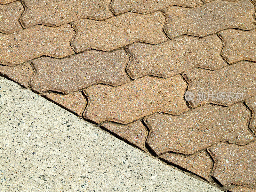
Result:
M34 70L29 62L14 67L0 65L0 74L28 88L28 81L33 76Z

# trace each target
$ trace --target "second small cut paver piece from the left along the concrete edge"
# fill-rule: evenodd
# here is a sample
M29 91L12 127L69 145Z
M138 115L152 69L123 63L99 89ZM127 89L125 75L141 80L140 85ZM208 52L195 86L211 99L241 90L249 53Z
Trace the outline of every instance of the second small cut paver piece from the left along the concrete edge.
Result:
M81 92L75 92L68 95L60 95L57 93L46 93L45 96L47 99L58 103L62 107L74 112L75 114L82 116L84 108L87 104L86 99Z

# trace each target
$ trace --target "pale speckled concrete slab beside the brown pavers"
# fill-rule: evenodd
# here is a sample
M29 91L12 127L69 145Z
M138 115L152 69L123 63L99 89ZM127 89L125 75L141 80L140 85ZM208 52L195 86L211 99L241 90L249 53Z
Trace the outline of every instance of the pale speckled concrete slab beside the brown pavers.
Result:
M0 77L0 191L220 191Z

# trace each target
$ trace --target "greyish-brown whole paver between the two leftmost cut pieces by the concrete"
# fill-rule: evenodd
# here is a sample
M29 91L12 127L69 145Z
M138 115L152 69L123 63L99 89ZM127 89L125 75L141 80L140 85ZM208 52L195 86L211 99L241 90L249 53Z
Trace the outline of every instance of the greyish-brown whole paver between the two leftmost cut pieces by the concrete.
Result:
M90 50L65 59L42 57L32 61L36 73L31 88L40 93L70 93L97 83L121 85L130 81L125 72L128 61L124 50Z

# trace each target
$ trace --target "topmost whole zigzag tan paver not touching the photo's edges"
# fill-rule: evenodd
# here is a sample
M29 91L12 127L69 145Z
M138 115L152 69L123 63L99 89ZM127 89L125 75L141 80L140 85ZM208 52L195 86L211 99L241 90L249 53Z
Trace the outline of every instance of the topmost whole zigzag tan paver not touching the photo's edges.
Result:
M81 52L87 49L112 51L134 42L159 44L167 40L162 30L164 22L161 12L125 13L104 21L79 20L72 25L76 29L72 45L76 52Z

